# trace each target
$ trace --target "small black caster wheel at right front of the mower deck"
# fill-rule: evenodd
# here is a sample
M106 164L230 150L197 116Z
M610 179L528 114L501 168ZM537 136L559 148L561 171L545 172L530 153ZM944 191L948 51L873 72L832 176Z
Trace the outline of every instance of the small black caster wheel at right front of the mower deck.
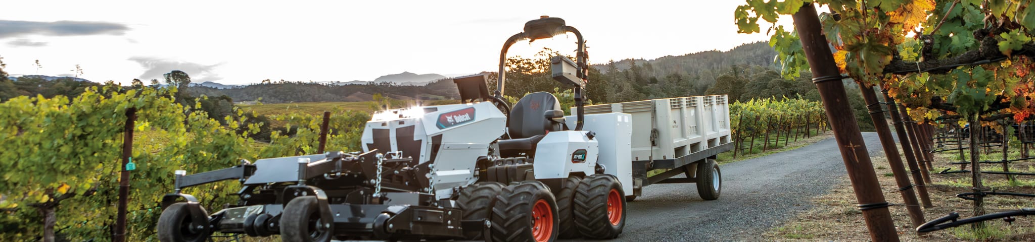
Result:
M334 223L328 229L320 229L320 208L317 198L313 195L298 196L284 207L280 215L280 239L285 242L328 242L330 241Z

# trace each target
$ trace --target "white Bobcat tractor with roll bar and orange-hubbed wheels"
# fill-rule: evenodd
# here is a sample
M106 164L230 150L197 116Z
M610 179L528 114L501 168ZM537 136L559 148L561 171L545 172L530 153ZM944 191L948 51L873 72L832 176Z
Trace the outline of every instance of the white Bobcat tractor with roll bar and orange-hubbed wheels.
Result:
M551 69L555 80L574 89L575 114L565 116L548 92L509 107L503 100L507 49L564 32L579 38L578 63L557 56ZM412 157L411 165L430 170L423 192L454 200L466 224L491 221L483 230L465 228L467 239L616 238L632 183L631 163L618 162L630 157L630 120L620 113L589 120L583 115L586 59L582 35L563 20L530 21L504 44L493 95L482 74L454 79L464 103L379 112L363 130L363 150Z

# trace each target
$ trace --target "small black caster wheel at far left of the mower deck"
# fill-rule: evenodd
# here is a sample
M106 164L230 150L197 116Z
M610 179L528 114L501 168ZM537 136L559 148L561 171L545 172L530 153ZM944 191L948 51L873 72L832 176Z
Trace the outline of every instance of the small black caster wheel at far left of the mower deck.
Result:
M206 215L208 211L201 208ZM158 241L161 242L204 242L211 232L208 228L189 228L193 217L187 203L175 203L166 207L158 216Z

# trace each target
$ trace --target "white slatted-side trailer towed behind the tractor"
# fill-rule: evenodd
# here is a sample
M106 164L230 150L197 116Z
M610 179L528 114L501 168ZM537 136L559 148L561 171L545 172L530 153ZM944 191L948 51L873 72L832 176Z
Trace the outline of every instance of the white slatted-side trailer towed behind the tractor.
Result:
M572 108L574 113L575 109ZM615 174L625 190L631 190L627 200L642 194L644 186L656 183L698 183L701 198L718 199L721 191L721 172L715 163L718 153L733 149L730 137L730 107L727 95L673 97L621 103L588 105L585 108L588 130L613 128L614 124L602 121L603 116L618 116L629 119L630 130L628 154L603 154L609 149L600 144L602 165L615 165ZM623 118L624 117L624 118ZM573 120L573 119L568 119ZM604 122L604 123L598 123ZM616 130L616 133L624 133ZM601 139L604 140L604 139ZM610 140L610 139L609 139ZM623 140L624 141L624 140ZM609 156L615 161L605 160ZM611 168L609 167L609 170ZM648 176L650 171L659 174ZM630 175L625 175L628 171ZM686 178L672 178L686 174Z

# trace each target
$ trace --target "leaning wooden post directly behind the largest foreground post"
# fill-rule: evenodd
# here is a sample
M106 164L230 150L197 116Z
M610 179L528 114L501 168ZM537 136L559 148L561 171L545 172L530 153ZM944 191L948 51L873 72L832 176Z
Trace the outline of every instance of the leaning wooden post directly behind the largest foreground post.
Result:
M884 154L888 158L888 167L891 167L891 173L898 185L898 192L903 195L903 202L906 203L910 221L913 222L914 228L920 226L924 222L923 211L920 210L920 203L917 202L916 193L913 192L913 183L910 182L906 167L903 165L901 156L898 155L895 139L891 137L891 128L884 120L884 110L881 109L881 101L877 99L877 92L874 91L873 87L866 87L862 84L860 84L859 90L862 91L862 99L866 101L869 119L874 121L874 129L877 129L877 135L881 140Z

